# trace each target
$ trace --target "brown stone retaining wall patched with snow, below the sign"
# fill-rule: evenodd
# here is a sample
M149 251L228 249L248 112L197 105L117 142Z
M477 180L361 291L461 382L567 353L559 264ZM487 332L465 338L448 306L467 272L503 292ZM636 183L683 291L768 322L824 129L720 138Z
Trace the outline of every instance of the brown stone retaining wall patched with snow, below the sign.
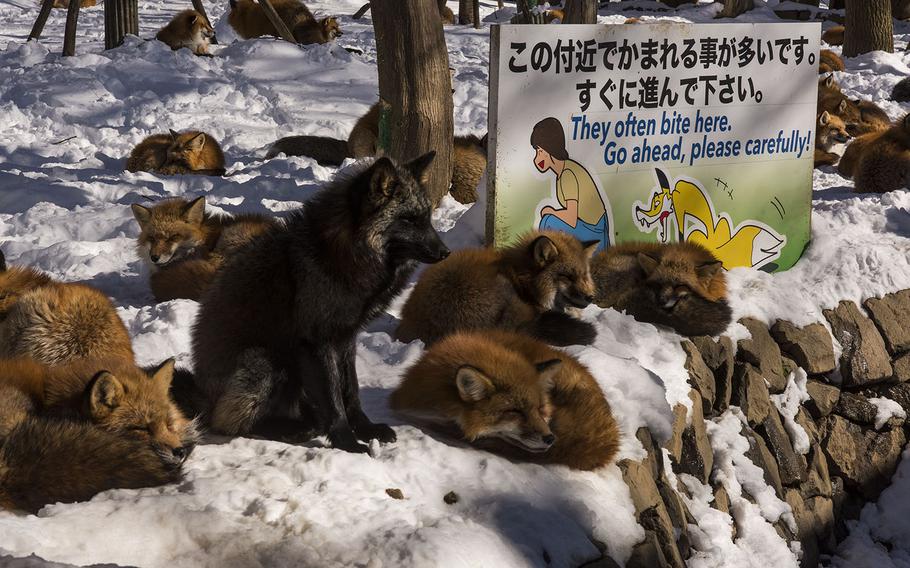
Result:
M910 290L867 300L863 307L841 302L824 316L841 345L839 360L821 323L798 327L778 321L769 329L744 319L740 323L752 337L737 345L729 337L683 342L692 386L690 419L683 406L674 409L673 434L663 448L642 428L636 436L648 458L619 464L646 531L628 566L682 567L691 553L687 527L695 520L667 479L662 449L674 473L711 485L712 506L729 513L727 490L711 475L706 422L730 406L745 416L746 456L793 511L795 532L784 522L775 528L788 541L800 541L802 566L817 566L819 554L833 553L846 536L845 522L858 518L863 504L888 485L910 425L892 417L876 428L878 410L870 401L890 399L910 415ZM795 416L809 438L805 453L794 448L786 418L771 399L784 392L798 368L808 376L808 399ZM752 498L745 489L743 496ZM733 530L735 536L735 517ZM591 564L614 565L607 558Z

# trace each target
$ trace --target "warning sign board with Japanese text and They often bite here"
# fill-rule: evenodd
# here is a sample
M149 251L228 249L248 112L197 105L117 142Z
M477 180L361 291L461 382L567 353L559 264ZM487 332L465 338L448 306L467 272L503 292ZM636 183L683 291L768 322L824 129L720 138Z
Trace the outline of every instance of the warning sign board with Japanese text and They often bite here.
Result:
M785 270L810 238L817 23L494 26L487 240L693 241Z

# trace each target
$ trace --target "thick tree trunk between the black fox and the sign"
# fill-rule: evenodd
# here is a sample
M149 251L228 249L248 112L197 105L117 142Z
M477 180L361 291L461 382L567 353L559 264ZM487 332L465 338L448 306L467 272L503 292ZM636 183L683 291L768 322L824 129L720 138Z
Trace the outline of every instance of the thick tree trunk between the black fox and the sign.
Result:
M452 81L439 12L426 0L372 0L379 67L378 152L399 161L436 151L427 189L452 181Z

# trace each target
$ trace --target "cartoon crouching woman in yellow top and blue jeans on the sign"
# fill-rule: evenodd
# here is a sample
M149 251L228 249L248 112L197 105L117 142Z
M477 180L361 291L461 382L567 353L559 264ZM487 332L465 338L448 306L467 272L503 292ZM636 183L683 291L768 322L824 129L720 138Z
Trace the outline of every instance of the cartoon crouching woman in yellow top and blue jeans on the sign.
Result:
M541 230L559 230L580 241L600 241L598 250L610 246L607 207L594 178L581 164L569 159L562 124L549 117L534 125L531 146L536 150L534 167L556 175L556 200L560 209L546 206L540 210Z

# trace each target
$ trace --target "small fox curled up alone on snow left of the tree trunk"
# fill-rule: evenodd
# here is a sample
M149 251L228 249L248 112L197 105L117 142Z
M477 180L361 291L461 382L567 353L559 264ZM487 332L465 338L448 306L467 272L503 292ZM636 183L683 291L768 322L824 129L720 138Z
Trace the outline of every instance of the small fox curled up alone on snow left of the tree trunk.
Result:
M211 135L188 130L152 134L133 148L127 171L223 176L224 153Z

